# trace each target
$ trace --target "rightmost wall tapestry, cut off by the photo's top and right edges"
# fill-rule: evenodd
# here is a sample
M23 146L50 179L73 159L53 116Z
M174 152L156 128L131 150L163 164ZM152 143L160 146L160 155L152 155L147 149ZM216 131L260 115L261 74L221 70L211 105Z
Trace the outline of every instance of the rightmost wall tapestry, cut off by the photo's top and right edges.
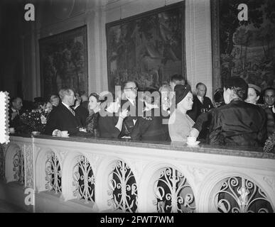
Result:
M247 21L239 21L239 4ZM275 1L212 0L213 89L239 76L262 89L275 87Z

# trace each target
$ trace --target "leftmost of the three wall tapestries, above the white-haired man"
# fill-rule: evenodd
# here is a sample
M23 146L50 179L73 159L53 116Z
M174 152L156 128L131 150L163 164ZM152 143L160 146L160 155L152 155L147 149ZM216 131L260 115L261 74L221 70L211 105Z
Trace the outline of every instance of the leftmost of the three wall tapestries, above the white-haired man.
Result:
M41 95L49 98L61 88L88 92L86 26L42 38L39 48Z

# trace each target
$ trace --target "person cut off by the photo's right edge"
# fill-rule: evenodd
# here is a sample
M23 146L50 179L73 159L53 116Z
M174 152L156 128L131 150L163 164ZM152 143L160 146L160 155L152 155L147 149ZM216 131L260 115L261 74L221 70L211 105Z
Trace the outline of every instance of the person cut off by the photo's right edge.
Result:
M264 106L266 113L266 130L267 135L271 136L275 131L275 89L272 87L264 89Z

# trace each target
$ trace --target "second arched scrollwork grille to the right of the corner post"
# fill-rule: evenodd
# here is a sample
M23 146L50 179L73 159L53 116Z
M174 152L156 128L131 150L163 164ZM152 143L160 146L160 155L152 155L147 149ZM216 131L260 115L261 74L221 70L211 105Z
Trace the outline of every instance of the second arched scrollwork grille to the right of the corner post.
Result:
M73 195L77 199L84 199L85 204L95 202L95 176L92 172L92 166L87 157L80 155L77 157L77 164L73 168L73 185L75 191Z

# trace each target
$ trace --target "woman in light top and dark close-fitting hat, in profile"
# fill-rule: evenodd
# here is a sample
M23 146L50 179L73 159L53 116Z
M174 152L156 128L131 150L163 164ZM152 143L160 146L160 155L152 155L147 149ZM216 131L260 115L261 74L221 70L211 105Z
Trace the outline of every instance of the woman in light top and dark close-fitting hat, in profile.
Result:
M192 109L193 94L190 87L178 84L175 87L176 109L171 111L168 128L171 141L186 142L194 125L194 121L186 112Z

